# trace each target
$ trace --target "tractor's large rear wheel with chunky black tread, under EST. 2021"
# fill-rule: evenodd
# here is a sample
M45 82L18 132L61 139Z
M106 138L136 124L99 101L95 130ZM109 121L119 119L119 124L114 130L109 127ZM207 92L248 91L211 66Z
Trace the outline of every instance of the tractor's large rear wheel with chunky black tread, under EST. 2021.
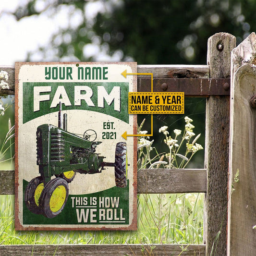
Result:
M117 187L127 186L127 146L125 142L118 142L115 154L115 181Z

